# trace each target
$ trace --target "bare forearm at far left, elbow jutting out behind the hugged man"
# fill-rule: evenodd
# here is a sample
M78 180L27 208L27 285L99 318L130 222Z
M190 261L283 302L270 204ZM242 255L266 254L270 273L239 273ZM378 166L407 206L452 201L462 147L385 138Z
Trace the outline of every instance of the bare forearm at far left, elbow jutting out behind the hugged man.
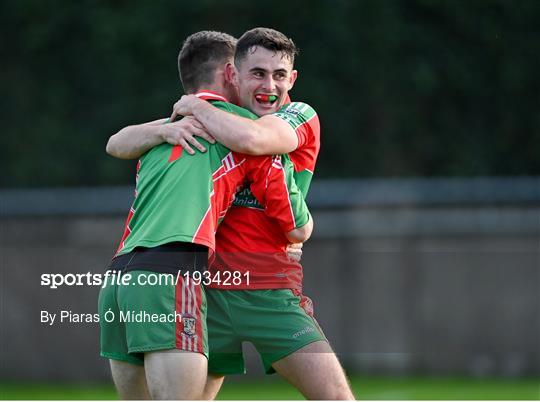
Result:
M164 142L161 126L166 119L127 126L109 138L106 151L120 159L137 159L149 149Z

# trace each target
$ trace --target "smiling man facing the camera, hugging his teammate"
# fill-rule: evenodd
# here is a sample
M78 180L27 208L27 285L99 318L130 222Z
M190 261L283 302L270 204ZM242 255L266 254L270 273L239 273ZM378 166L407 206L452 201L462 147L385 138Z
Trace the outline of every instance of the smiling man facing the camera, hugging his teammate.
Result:
M237 43L235 66L227 66L226 74L238 87L241 105L262 117L238 118L184 96L171 117L187 115L197 122L178 123L175 135L196 144L193 134L199 133L189 132L193 125L238 152L289 153L295 181L305 196L319 152L320 128L310 106L285 105L297 77L296 53L294 42L278 31L255 28L246 32ZM134 132L132 141L124 135L117 142L122 152L136 148L139 135ZM307 398L353 399L343 369L313 317L311 301L301 293L302 267L286 258L289 242L248 190L237 194L216 242L216 263L211 270L249 271L252 281L249 286L211 283L207 289L210 375L205 398L215 397L224 375L244 372L241 343L250 341L267 373L277 371Z

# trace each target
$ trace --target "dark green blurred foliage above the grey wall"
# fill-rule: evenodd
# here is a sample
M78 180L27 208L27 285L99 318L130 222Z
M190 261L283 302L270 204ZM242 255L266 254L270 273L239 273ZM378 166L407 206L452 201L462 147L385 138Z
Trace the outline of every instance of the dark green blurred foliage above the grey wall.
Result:
M318 177L540 174L540 2L3 2L3 187L132 183L105 154L167 116L183 39L270 26L301 48Z

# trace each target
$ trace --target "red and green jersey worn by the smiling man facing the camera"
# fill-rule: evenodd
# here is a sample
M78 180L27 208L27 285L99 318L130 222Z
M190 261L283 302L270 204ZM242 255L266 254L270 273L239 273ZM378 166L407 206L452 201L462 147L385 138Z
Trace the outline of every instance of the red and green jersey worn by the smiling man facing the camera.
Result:
M307 195L320 149L320 123L315 110L302 102L283 106L275 116L289 123L298 136L298 147L283 159L294 166L293 178L304 196ZM217 234L216 271L249 271L249 284L244 281L235 289L301 289L302 266L288 260L288 241L277 221L265 214L248 188L235 198L227 218ZM211 287L231 289L213 283Z

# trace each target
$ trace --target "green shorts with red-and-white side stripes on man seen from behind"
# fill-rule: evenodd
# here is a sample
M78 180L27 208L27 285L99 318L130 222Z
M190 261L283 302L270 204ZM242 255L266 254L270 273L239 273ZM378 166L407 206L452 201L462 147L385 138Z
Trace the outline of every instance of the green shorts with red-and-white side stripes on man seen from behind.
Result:
M206 296L181 275L130 271L99 293L101 356L143 365L144 353L180 349L208 356ZM176 283L178 282L178 283Z

